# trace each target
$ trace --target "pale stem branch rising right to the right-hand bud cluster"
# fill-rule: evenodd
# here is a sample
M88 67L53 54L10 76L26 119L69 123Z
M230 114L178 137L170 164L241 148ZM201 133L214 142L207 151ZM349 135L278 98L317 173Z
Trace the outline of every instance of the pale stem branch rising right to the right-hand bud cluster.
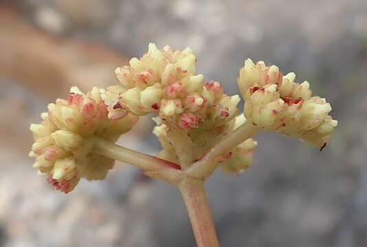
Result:
M188 174L197 178L207 178L214 172L216 167L219 166L219 156L229 152L237 145L243 143L243 141L253 137L259 131L260 128L254 126L251 122L245 122L245 124L236 128L236 130L228 134L227 137L214 145L200 161L194 163L187 170Z

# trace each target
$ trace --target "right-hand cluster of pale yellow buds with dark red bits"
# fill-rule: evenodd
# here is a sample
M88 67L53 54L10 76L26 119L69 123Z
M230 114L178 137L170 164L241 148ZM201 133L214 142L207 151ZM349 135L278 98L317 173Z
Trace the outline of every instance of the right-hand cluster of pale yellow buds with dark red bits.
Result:
M245 98L245 116L259 128L298 137L323 147L337 121L329 115L326 99L311 97L309 82L293 82L295 73L283 76L278 67L247 59L238 86Z

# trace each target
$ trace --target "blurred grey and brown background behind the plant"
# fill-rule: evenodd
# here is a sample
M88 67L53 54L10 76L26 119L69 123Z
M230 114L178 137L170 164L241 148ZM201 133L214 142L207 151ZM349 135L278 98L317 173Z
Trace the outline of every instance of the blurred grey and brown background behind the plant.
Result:
M245 58L295 71L339 120L322 152L258 134L251 169L210 178L222 246L367 246L366 0L0 1L0 246L194 246L175 187L118 163L65 196L27 157L48 102L116 84L113 69L149 42L192 47L231 94ZM155 154L152 126L142 118L119 142Z

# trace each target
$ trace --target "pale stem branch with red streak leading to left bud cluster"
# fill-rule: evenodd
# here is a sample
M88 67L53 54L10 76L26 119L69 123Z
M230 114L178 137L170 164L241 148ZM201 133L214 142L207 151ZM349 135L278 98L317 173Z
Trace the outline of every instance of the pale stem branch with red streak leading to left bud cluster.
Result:
M129 150L128 148L123 148L120 145L116 145L115 143L111 143L109 141L104 141L104 139L100 139L98 137L93 137L93 143L93 152L118 161L129 163L135 167L139 167L147 171L155 171L167 168L181 169L179 165L170 161L165 161L155 156Z

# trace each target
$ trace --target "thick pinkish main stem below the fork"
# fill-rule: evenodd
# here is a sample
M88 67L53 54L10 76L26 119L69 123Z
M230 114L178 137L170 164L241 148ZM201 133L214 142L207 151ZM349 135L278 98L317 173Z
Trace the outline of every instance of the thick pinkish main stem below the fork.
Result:
M204 180L186 178L179 184L188 210L192 231L199 247L219 247L212 215L205 195Z

